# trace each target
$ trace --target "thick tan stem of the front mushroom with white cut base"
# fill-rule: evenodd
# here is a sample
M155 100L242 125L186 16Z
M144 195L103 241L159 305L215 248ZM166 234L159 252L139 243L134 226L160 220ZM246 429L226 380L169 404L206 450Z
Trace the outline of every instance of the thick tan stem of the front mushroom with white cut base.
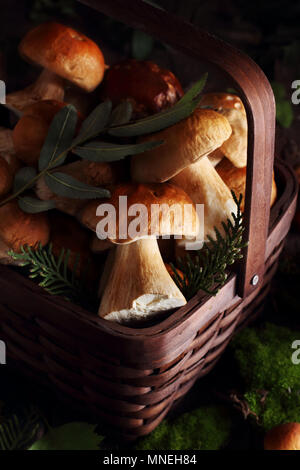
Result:
M127 323L186 304L169 275L156 238L118 245L98 315Z

